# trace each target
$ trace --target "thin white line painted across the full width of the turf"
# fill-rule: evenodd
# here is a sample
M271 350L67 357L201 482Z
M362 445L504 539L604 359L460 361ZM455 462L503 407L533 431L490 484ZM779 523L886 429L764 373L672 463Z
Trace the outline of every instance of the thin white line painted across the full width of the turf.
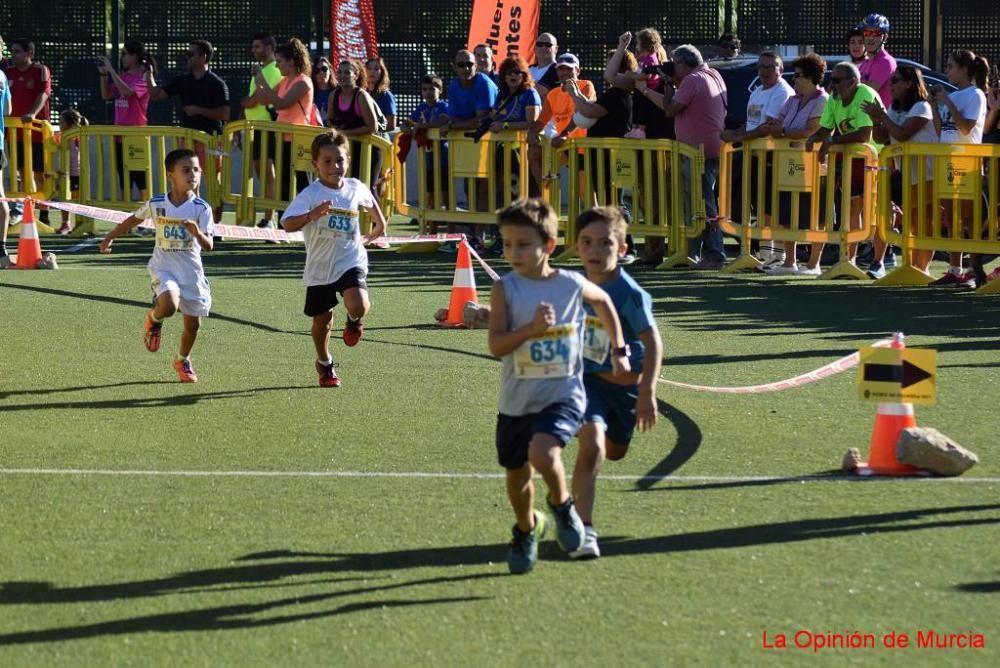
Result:
M103 476L163 476L178 478L410 478L410 479L472 479L496 480L503 473L442 473L433 471L157 471L141 469L0 469L0 475L103 475ZM601 480L626 482L847 482L857 480L900 480L900 478L865 478L853 475L836 476L726 476L726 475L602 475ZM914 482L1000 483L1000 478L905 478Z

